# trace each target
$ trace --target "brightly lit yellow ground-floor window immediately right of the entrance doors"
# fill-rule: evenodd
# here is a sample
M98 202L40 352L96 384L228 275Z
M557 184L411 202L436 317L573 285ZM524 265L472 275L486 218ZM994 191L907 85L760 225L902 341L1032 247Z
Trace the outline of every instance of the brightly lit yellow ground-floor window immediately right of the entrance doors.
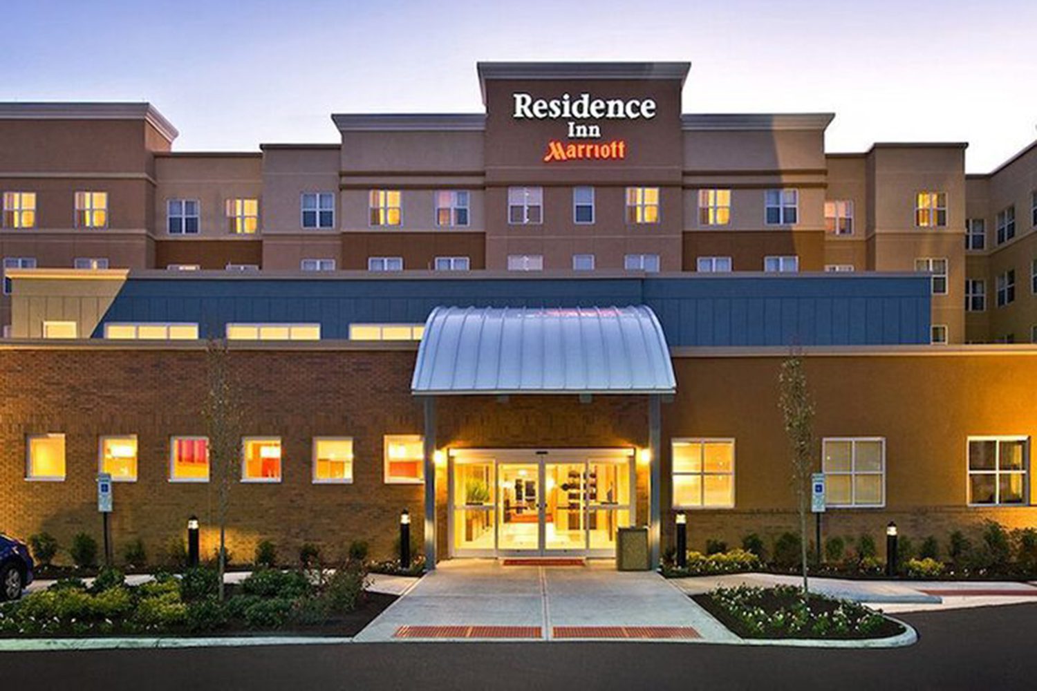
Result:
M734 508L734 439L674 439L673 508Z

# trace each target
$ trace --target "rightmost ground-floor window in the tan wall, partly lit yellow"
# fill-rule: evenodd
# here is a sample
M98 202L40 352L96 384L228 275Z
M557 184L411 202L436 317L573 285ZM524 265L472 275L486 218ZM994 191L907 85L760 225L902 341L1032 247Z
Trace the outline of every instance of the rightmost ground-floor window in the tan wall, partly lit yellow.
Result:
M969 437L969 503L1024 505L1030 437Z

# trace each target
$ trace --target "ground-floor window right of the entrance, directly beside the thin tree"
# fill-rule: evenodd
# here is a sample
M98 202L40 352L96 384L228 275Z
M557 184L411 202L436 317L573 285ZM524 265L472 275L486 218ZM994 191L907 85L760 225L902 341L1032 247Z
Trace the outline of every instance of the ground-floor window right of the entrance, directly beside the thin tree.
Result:
M886 505L885 437L828 437L821 440L821 471L830 507Z

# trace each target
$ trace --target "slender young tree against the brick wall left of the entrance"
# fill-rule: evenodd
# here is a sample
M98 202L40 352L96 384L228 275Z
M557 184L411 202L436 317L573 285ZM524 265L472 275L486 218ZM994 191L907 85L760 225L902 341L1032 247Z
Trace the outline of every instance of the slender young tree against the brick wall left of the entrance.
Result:
M217 491L217 521L220 524L220 551L217 570L220 600L224 599L223 574L227 569L227 514L230 488L241 474L242 403L227 342L211 339L205 348L207 391L202 405L208 436L208 461Z

